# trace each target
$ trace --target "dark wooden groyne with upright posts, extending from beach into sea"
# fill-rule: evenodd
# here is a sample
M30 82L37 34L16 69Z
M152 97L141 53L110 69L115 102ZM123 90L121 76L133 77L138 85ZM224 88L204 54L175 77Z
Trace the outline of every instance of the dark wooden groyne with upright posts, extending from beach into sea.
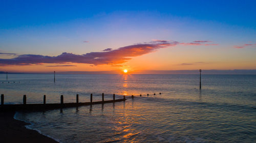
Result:
M125 96L122 99L115 99L115 94L113 94L113 100L104 100L104 93L102 93L102 101L93 102L93 94L91 94L91 102L79 102L79 96L76 95L76 103L64 103L63 95L60 96L60 103L48 103L46 104L46 95L44 95L43 104L27 104L26 95L23 96L23 104L4 104L4 95L1 95L1 106L0 111L42 111L42 110L51 110L51 109L61 109L69 107L79 107L85 105L94 105L94 104L104 104L104 103L113 103L125 101Z

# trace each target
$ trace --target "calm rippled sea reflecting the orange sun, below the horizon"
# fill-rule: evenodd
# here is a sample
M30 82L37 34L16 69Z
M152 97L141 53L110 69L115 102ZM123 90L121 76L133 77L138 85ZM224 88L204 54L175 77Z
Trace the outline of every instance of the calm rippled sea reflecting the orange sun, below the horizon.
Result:
M256 75L0 74L5 103L125 102L45 112L15 118L60 142L255 142ZM3 83L4 82L4 83ZM14 83L15 82L15 83ZM162 93L161 95L159 93ZM153 95L156 93L156 95ZM139 95L142 94L142 97ZM146 94L150 94L146 96ZM129 98L135 95L134 99Z

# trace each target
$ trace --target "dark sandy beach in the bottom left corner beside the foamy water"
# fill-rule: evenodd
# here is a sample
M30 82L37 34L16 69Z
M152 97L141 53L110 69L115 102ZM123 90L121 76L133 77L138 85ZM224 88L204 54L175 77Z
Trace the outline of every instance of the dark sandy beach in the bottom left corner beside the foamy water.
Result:
M14 119L14 115L15 111L0 112L1 142L58 142L36 130L27 129L25 126L30 124Z

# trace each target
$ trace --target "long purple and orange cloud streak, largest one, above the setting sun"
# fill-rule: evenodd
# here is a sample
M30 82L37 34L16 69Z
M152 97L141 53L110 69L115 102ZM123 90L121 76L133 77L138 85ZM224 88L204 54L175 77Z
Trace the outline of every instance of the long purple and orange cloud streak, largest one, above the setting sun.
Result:
M115 50L104 52L90 52L86 54L73 54L63 52L58 56L38 54L22 54L12 59L0 59L0 65L34 65L34 64L67 64L83 63L92 65L117 65L131 60L135 56L155 52L157 49L176 46L179 42L152 41L145 44L135 44L120 47Z

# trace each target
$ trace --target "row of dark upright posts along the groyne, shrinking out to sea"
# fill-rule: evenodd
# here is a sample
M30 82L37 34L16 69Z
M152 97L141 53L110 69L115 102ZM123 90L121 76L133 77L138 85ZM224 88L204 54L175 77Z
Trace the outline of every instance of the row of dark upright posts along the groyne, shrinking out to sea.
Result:
M159 93L161 94L161 93ZM147 94L148 96L149 94ZM156 95L154 93L154 95ZM142 96L142 95L140 95ZM134 98L134 95L132 95L132 98ZM125 100L125 96L123 96L123 99ZM113 100L115 100L115 94L113 94ZM91 94L91 103L93 102L93 94ZM102 102L104 102L104 93L102 93ZM44 95L44 104L46 104L46 95ZM60 104L63 104L64 103L64 98L63 98L63 95L60 95ZM79 95L76 94L76 103L79 103ZM23 104L26 105L27 104L27 96L26 95L23 95ZM1 94L1 105L4 105L4 94Z

